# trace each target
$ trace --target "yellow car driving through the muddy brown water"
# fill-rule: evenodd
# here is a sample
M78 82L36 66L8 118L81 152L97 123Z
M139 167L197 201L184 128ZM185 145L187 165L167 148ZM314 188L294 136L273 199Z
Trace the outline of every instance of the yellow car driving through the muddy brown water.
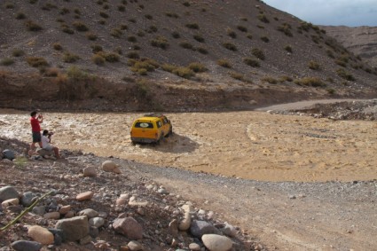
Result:
M136 143L160 143L163 137L169 137L173 127L163 114L145 114L132 123L131 141Z

